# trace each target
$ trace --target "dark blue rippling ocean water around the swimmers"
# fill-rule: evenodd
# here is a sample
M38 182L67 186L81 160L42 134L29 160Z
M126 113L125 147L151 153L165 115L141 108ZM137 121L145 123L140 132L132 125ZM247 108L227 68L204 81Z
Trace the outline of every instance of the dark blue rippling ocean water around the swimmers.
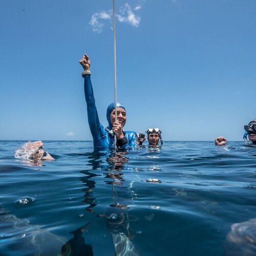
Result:
M165 141L114 154L0 141L1 255L255 255L256 147Z

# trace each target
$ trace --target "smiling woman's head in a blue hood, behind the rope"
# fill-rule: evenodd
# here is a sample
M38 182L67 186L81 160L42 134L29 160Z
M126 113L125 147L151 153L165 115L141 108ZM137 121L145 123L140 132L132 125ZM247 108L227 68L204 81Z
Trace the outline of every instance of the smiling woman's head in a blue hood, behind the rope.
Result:
M117 120L122 125L122 127L126 123L126 111L124 106L117 102L116 103L116 112L117 112ZM112 128L113 123L115 122L115 102L111 103L106 109L106 119L109 122L109 127Z

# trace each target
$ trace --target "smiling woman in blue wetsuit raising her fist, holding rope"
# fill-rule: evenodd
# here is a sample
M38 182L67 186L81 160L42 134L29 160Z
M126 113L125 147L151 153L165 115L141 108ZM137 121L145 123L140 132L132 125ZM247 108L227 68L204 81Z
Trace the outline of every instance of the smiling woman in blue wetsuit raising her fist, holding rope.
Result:
M118 147L125 148L128 146L136 146L137 134L135 132L124 132L122 129L126 123L126 111L121 103L117 103L117 121L115 121L115 103L111 103L106 110L106 119L108 119L109 126L104 128L99 122L91 82L91 62L88 55L84 54L79 60L79 63L83 67L84 95L86 96L88 122L93 136L94 147L114 147L114 135L117 137Z

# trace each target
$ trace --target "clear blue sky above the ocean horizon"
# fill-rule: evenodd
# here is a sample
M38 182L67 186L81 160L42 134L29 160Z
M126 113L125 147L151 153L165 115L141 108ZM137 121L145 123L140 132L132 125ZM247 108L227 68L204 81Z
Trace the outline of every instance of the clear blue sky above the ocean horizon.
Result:
M0 139L91 140L78 60L103 125L114 101L112 0L0 1ZM126 131L242 140L255 114L255 0L116 0Z

